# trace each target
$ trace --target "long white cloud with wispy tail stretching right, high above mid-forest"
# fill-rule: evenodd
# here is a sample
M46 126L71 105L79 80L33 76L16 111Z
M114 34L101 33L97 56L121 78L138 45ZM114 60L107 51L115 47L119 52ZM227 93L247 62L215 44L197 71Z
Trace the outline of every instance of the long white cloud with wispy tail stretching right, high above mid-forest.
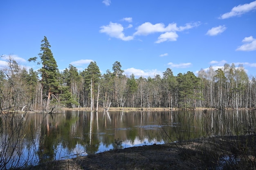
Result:
M199 25L200 22L195 22L185 24L185 26L177 27L176 23L168 24L168 26L165 26L163 23L157 23L153 25L150 22L145 22L136 28L137 31L133 35L148 35L153 33L184 31Z

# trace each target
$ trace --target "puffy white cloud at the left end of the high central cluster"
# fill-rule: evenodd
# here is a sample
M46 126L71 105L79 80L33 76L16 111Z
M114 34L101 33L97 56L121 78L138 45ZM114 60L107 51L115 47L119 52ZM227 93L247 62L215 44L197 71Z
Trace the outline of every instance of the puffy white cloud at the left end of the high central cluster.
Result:
M130 41L133 39L133 36L126 37L124 35L124 27L121 24L110 22L109 25L101 26L100 28L101 33L106 33L110 37L115 37L124 41Z

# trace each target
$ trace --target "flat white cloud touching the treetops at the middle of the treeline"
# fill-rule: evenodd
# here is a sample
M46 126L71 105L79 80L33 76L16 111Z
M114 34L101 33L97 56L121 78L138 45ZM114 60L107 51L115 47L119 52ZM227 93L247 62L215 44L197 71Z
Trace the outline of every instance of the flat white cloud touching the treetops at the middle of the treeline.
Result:
M131 75L134 74L135 77L154 77L156 74L162 75L162 72L158 70L139 70L136 68L128 68L124 70L124 74Z

